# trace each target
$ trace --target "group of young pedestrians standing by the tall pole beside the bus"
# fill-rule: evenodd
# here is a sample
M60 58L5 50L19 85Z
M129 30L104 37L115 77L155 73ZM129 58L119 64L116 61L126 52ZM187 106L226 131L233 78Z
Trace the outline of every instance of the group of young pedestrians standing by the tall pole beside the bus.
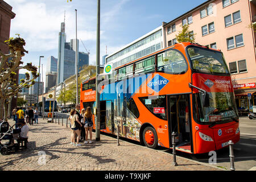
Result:
M69 115L69 120L71 122L71 144L73 146L81 146L79 142L84 141L84 144L88 143L88 133L90 134L89 143L92 143L92 111L90 107L82 109L79 112L80 105L76 105L76 109L72 109ZM77 137L76 137L77 135Z

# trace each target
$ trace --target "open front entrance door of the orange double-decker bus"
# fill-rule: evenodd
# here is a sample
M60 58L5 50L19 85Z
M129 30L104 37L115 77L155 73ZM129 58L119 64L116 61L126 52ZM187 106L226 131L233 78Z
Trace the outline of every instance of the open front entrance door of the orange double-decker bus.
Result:
M181 94L169 96L169 119L170 131L176 133L175 143L177 150L191 152L190 118L189 118L189 95ZM171 137L171 135L170 135ZM172 137L170 139L172 146Z

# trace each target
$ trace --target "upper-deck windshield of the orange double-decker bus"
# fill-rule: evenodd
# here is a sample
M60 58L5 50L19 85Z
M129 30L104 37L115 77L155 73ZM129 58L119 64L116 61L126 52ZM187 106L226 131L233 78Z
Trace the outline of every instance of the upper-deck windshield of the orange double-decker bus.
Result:
M191 60L192 69L196 72L229 74L228 67L221 52L200 47L188 47L187 51Z

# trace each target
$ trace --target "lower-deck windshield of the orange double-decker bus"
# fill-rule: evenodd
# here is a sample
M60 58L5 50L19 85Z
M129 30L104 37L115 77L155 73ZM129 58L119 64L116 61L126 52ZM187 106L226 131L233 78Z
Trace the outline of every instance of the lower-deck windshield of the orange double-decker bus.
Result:
M198 123L226 123L238 119L232 92L208 92L209 105L204 106L203 94L193 94L193 116Z

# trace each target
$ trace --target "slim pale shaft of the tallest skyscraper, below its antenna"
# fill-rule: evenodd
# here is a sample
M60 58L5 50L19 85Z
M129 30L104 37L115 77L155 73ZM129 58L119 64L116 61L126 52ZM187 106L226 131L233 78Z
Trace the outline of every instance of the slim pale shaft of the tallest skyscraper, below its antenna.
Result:
M57 84L60 82L63 82L63 76L64 76L64 49L65 49L65 23L61 23L61 28L59 32L59 46L58 46L58 62L57 62L57 69L59 69L58 75L57 75Z

